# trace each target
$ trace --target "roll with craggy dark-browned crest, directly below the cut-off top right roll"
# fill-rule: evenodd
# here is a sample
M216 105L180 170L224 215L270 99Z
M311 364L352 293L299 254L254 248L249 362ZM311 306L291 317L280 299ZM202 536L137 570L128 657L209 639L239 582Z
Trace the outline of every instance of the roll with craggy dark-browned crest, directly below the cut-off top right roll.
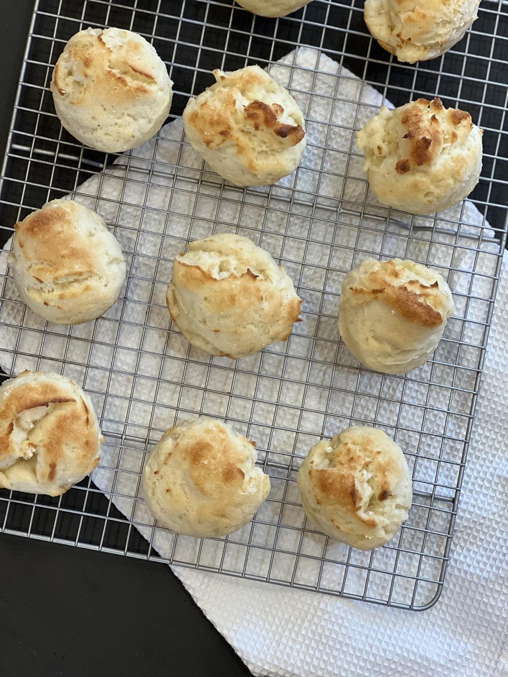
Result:
M381 108L358 132L364 171L379 202L412 214L457 204L482 171L482 133L464 110L418 99Z

